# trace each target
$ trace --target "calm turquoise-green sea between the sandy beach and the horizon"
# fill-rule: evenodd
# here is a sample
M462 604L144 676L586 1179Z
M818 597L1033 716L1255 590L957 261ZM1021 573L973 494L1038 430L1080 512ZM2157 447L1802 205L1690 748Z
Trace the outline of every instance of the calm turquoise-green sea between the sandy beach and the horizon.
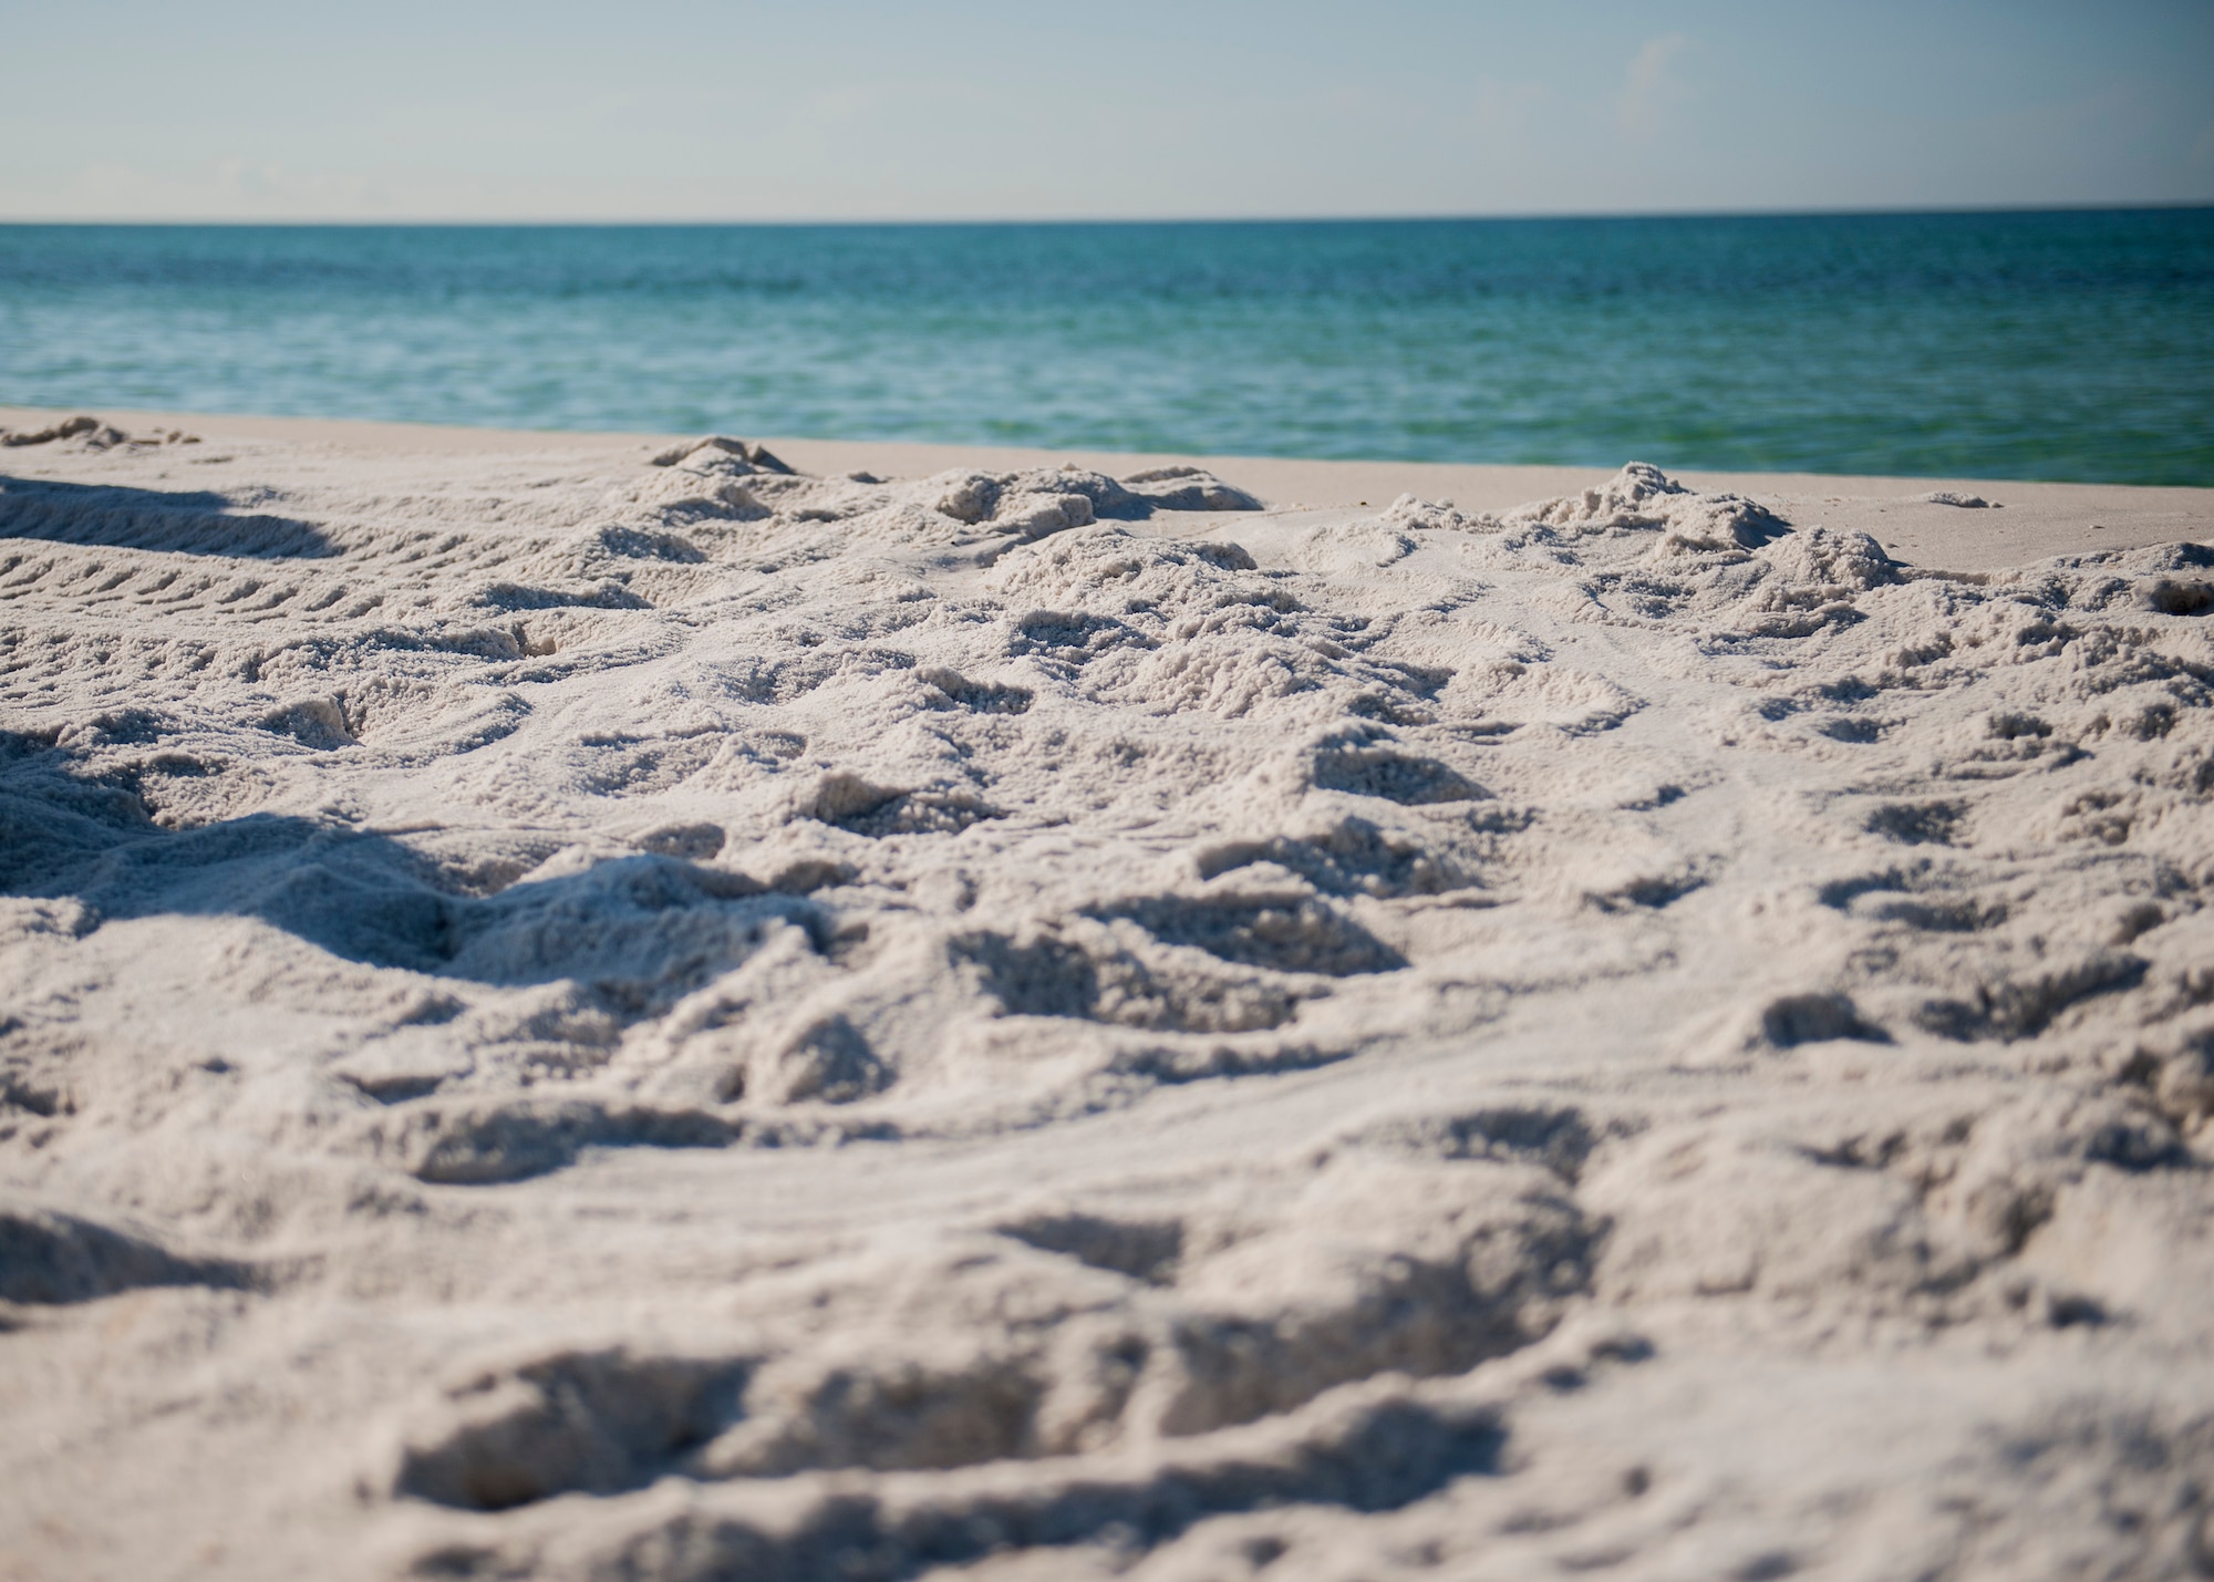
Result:
M0 403L2214 485L2214 210L0 226Z

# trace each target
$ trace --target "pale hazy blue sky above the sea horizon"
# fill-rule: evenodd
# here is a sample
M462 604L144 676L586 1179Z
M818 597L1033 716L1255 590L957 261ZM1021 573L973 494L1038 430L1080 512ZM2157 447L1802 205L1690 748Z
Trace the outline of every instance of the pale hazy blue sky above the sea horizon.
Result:
M2214 0L0 0L0 219L2214 202Z

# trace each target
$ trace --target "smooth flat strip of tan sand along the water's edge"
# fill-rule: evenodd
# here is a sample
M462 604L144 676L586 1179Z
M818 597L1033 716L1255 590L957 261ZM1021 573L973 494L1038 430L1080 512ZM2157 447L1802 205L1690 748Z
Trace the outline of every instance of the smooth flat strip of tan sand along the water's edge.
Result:
M137 408L0 405L0 428L38 428L86 410L124 430L186 428L230 443L323 445L370 456L489 456L653 452L684 434L449 428L376 419L237 417ZM1525 501L1603 483L1612 468L1548 468L1439 461L1308 461L1180 452L1049 450L1030 445L943 445L925 441L759 436L801 472L835 476L883 472L921 476L952 468L1012 472L1074 463L1125 474L1158 465L1200 465L1260 496L1269 510L1384 507L1399 494L1452 501L1463 510L1510 510ZM4 456L0 456L4 459ZM1632 456L1623 456L1632 461ZM1990 572L2057 554L2141 549L2214 541L2214 487L2134 483L2026 483L2008 479L1904 479L1818 472L1669 470L1703 492L1747 494L1793 525L1866 532L1889 554L1922 567ZM1937 503L1959 494L1997 510Z

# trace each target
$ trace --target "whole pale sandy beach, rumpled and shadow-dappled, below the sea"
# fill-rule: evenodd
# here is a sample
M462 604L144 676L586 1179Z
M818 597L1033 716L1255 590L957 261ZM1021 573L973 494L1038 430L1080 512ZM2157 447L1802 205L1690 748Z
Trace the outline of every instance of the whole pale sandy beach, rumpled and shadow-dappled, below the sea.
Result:
M0 1578L2207 1569L2207 492L193 428L0 450Z

